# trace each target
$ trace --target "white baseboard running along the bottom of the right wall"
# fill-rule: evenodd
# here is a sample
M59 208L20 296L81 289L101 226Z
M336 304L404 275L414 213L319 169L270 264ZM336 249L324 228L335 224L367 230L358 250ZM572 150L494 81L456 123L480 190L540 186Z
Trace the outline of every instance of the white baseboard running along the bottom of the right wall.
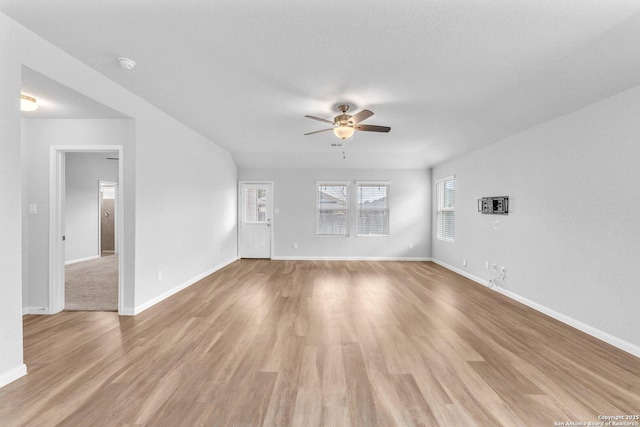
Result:
M464 270L460 270L459 268L453 267L447 263L444 263L442 261L433 260L434 263L441 265L442 267L453 271L454 273L458 273L461 276L466 277L467 279L473 280L476 283L479 283L481 285L484 286L489 286L489 282L487 280L481 279L477 276L474 276L472 274L467 273ZM553 317L556 320L559 320L562 323L565 323L573 328L576 328L586 334L591 335L592 337L598 338L599 340L602 340L608 344L611 344L614 347L619 348L620 350L626 351L627 353L630 353L636 357L640 357L640 346L637 346L635 344L631 344L630 342L627 342L623 339L620 339L616 336L613 336L607 332L601 331L600 329L594 328L591 325L588 325L584 322L581 322L579 320L574 319L573 317L567 316L565 314L559 313L549 307L545 307L542 304L539 304L535 301L531 301L530 299L527 299L525 297L522 297L518 294L516 294L515 292L509 291L507 289L501 288L500 286L494 286L492 288L490 288L496 292L501 293L504 296L507 296L515 301L518 301L519 303L522 303L524 305L526 305L527 307L533 308L536 311L539 311L540 313L546 314L549 317Z

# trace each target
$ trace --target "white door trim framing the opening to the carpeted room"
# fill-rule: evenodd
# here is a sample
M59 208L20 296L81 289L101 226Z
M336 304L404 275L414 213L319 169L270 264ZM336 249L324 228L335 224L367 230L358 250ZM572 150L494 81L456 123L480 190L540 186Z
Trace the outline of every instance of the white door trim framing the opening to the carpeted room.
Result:
M49 148L49 308L47 314L64 310L64 241L65 235L65 154L118 153L118 192L116 217L120 219L116 241L124 234L124 146L122 145L52 145ZM124 254L118 250L118 314L124 313Z

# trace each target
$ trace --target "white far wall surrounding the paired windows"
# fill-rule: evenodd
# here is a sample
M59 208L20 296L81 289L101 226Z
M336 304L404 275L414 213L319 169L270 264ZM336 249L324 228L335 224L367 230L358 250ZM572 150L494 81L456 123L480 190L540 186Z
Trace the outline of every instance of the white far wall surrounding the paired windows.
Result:
M431 178L427 170L240 169L241 181L274 182L274 258L425 259L431 256ZM316 181L389 181L389 237L316 235ZM355 209L355 203L352 203ZM298 248L294 249L293 244ZM409 249L409 244L413 249Z

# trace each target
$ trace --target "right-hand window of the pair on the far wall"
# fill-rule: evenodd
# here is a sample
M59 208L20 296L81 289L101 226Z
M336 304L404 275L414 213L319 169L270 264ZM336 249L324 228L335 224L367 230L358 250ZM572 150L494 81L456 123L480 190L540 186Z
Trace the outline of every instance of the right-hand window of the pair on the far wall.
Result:
M356 183L358 236L389 235L389 183Z

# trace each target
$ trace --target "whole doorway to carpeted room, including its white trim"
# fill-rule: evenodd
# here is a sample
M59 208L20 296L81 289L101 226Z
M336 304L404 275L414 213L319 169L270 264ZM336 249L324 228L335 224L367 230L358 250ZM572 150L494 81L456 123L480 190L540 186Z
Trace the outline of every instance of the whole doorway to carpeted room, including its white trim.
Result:
M50 314L122 314L123 152L115 145L51 147Z

